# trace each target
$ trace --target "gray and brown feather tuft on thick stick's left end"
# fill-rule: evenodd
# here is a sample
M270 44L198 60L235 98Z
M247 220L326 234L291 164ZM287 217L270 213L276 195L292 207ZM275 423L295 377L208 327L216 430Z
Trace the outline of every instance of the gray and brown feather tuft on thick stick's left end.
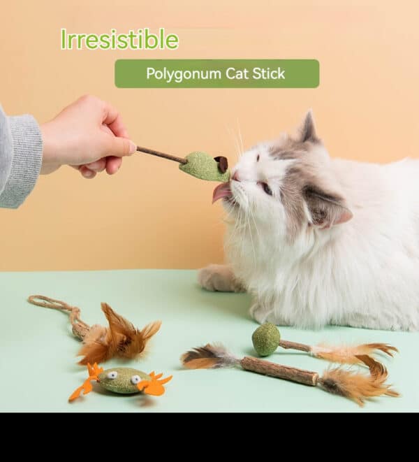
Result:
M211 345L193 348L180 357L183 365L189 369L212 369L236 366L240 359L230 354L223 345Z

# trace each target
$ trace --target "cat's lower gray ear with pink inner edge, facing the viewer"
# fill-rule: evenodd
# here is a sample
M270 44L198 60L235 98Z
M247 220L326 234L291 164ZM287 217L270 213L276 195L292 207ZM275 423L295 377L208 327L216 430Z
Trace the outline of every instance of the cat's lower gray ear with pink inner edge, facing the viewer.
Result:
M310 222L319 229L328 229L336 224L346 223L353 213L339 194L332 194L314 185L304 187L304 199L310 215Z

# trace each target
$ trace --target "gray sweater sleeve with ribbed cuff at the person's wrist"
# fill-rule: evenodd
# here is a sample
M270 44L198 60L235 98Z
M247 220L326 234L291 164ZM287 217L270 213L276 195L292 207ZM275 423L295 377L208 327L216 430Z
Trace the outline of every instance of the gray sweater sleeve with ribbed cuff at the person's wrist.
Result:
M0 106L0 207L19 207L34 189L42 150L41 130L34 117L6 117Z

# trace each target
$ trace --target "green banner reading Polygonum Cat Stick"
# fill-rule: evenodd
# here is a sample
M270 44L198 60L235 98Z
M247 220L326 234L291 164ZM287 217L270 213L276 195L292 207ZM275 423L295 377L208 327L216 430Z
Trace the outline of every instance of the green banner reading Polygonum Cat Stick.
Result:
M118 88L316 88L316 59L118 59Z

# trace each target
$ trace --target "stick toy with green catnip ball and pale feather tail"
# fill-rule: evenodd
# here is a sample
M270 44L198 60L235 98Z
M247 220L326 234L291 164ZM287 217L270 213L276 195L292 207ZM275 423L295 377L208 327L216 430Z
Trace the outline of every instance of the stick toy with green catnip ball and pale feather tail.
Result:
M387 343L365 343L363 345L354 346L338 346L331 345L304 345L304 343L289 342L281 340L279 329L274 324L266 322L256 329L251 336L253 347L259 356L269 356L278 347L284 349L297 349L300 352L306 352L316 358L326 359L334 363L356 364L362 363L360 356L371 356L376 352L382 352L392 356L393 352L399 350Z

